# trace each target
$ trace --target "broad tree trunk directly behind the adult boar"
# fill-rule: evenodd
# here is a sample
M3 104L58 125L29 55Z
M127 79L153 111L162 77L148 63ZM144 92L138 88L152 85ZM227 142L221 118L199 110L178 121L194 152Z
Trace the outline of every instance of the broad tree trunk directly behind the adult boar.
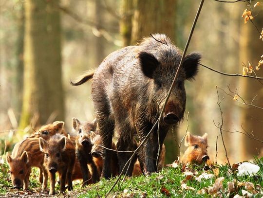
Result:
M175 14L176 0L135 0L131 44L144 36L150 36L150 33L166 34L175 40ZM173 129L173 133L169 131L165 140L167 163L177 159L176 140L176 129Z

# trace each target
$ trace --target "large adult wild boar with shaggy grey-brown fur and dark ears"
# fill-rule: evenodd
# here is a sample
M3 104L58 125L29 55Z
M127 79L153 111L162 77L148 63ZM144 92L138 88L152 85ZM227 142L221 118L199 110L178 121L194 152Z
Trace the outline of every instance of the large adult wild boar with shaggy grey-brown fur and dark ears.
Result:
M182 57L181 51L161 34L144 38L135 46L128 46L108 55L94 73L86 73L72 85L81 85L93 78L92 98L103 146L112 145L113 131L118 134L117 150L136 148L133 135L142 142L160 116L165 97L169 92L175 72ZM158 147L169 128L183 119L186 106L184 82L198 72L201 55L188 54L179 71L159 126L138 152L145 173L157 171ZM112 151L104 149L102 176L110 178ZM131 153L118 153L120 170ZM135 161L135 159L133 159ZM133 165L128 170L131 176Z

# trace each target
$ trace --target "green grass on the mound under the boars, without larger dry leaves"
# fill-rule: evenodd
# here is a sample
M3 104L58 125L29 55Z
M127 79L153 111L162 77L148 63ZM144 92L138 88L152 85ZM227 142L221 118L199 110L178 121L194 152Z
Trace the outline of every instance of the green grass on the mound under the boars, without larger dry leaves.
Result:
M255 159L254 163L260 166L260 171L257 175L254 176L242 176L237 177L237 171L234 171L233 174L229 174L229 168L225 165L213 164L210 167L202 166L192 166L187 167L188 171L197 171L196 177L201 175L204 172L208 174L214 174L213 169L219 169L219 175L214 176L211 179L202 179L201 182L191 178L190 180L185 180L186 175L182 172L182 169L185 169L181 165L176 168L166 167L158 173L153 173L150 176L139 176L132 178L125 178L122 185L120 185L118 191L118 185L113 188L110 197L117 195L116 197L134 197L134 198L167 198L167 197L179 197L179 198L211 198L213 195L207 193L202 194L199 191L201 189L212 186L215 183L215 180L219 177L225 177L223 180L223 188L220 189L219 195L214 195L214 197L229 197L227 190L227 182L233 181L234 179L239 182L252 182L256 187L254 191L254 198L261 198L263 196L263 158ZM185 169L186 170L186 169ZM9 179L8 166L6 163L0 163L0 196L6 193L12 192L12 183ZM89 185L86 187L80 187L80 184L74 185L74 191L66 193L64 195L57 194L58 197L68 196L68 197L78 197L78 198L96 198L96 197L105 197L110 188L113 186L116 178L112 180L101 179L96 184ZM185 190L182 189L182 181L187 184L187 186L194 188L194 190ZM242 196L242 190L244 186L237 188L236 192L233 192L230 197L233 197L236 194ZM41 185L38 181L38 169L34 168L31 174L30 179L30 190L37 192L41 190ZM48 191L47 191L48 192ZM56 187L56 192L58 193L58 186ZM252 193L252 192L251 192ZM46 193L47 194L47 193Z

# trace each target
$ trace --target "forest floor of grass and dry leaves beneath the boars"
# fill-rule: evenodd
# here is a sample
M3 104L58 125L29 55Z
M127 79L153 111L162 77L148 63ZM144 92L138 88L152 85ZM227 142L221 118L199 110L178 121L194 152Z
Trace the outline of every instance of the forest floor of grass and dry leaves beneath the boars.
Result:
M232 170L227 164L210 163L206 166L185 166L170 164L158 173L149 176L125 178L117 184L109 197L116 198L262 198L263 197L263 158L255 158L254 164L260 167L257 174L239 176L237 167L232 164ZM74 190L59 193L56 186L56 196L48 196L48 189L41 192L38 181L38 169L33 169L28 191L12 188L8 165L0 162L0 197L14 198L103 198L109 192L116 178L102 179L96 184L81 187L81 181L74 182ZM121 184L121 185L120 185Z

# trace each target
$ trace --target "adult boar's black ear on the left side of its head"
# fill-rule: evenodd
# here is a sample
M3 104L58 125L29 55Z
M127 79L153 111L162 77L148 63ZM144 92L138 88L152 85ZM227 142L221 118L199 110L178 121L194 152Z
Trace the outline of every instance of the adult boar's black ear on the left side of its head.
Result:
M158 60L147 52L141 52L138 55L142 72L149 78L153 78L153 72L159 65Z

